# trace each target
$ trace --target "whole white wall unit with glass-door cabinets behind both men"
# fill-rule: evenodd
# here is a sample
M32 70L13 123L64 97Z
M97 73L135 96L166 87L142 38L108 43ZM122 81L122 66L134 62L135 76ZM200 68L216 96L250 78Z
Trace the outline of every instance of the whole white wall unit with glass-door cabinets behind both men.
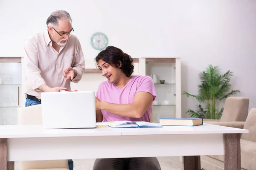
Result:
M78 84L71 83L72 89L93 90L96 92L98 85L105 81L101 72L96 69L93 59L85 59L86 69ZM15 69L17 78L15 82L4 82L0 85L0 125L12 125L17 123L17 108L25 106L24 83L26 68L23 57L0 57L0 64L12 63L8 69ZM14 66L16 64L16 66ZM6 74L3 66L0 66L0 74ZM19 65L17 67L17 65ZM11 71L12 72L12 71ZM10 73L10 70L8 71ZM162 117L181 117L181 78L180 58L178 57L140 57L134 58L134 75L157 75L155 88L157 91L157 103L153 105L153 122L159 122ZM0 75L1 76L1 75ZM3 76L3 75L2 75ZM165 79L165 84L159 80ZM19 92L18 92L19 87ZM17 101L14 97L17 96ZM5 97L10 97L5 99ZM12 100L9 102L9 99ZM19 101L18 101L19 99ZM6 101L7 102L6 102ZM166 101L166 102L164 102ZM15 103L16 102L16 103Z

